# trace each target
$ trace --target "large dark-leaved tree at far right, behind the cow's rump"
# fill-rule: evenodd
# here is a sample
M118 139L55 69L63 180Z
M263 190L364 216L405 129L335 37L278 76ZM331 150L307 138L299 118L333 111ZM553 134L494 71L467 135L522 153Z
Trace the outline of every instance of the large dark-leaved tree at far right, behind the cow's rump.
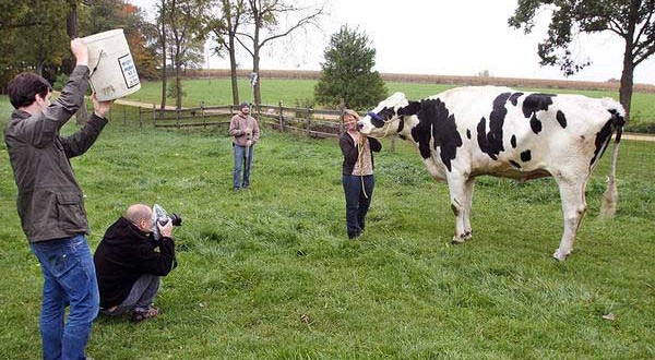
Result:
M541 8L552 9L552 15L547 38L538 46L540 63L559 65L564 75L591 63L577 62L571 52L580 34L610 32L623 39L619 100L630 113L634 68L655 52L655 0L519 0L509 25L531 33Z

